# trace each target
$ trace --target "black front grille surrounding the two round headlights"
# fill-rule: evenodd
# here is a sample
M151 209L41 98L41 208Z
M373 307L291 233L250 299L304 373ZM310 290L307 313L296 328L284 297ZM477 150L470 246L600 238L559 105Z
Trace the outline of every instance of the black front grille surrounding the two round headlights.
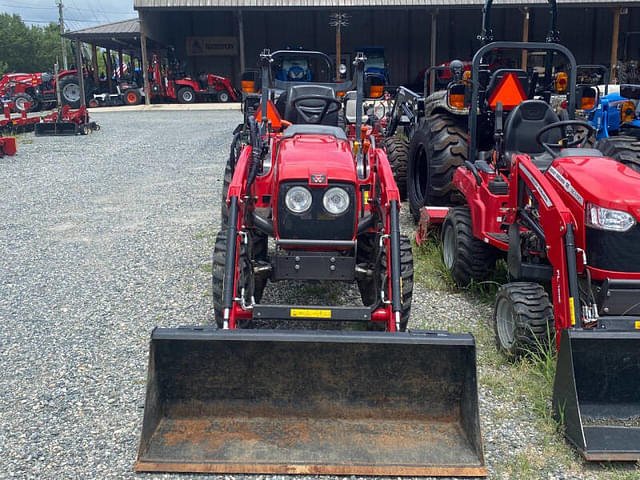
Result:
M302 214L292 213L286 207L284 197L295 186L311 191L313 203ZM331 187L342 187L349 194L349 208L339 216L327 213L322 205L322 195ZM286 182L278 192L278 236L296 240L351 240L356 222L356 191L352 184L330 182L326 187L310 188L307 182Z

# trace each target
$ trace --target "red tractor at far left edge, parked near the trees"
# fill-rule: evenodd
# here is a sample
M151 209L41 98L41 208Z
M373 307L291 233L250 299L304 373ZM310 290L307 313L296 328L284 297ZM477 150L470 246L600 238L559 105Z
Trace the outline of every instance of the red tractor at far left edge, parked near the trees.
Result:
M63 105L80 107L80 82L77 70L63 70L59 73L60 96ZM93 77L85 76L87 99L95 90ZM8 98L17 111L23 111L30 104L30 111L53 108L58 104L56 79L51 73L8 73L0 79L0 97Z

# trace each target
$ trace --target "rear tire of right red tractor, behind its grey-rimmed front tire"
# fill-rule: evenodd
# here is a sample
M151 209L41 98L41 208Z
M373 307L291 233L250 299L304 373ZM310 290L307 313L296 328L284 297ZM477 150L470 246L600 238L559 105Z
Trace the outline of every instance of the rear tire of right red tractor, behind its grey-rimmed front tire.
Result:
M442 257L460 287L486 279L495 269L497 250L473 236L469 207L449 210L442 224Z

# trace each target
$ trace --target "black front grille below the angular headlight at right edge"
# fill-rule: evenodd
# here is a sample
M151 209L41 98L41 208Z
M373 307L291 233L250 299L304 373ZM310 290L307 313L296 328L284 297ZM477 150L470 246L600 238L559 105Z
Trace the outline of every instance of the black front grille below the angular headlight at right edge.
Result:
M587 227L589 265L614 272L640 272L640 225L627 232Z

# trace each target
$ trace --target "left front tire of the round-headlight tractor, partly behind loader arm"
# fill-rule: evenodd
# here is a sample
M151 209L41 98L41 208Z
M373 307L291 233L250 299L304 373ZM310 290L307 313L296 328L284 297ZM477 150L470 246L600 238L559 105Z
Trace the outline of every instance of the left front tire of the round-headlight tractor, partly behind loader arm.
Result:
M259 236L252 238L252 258L265 259L267 256L267 237ZM249 255L249 250L244 243L240 244L240 260L242 264L243 257ZM222 328L224 324L223 307L222 307L222 289L224 283L224 264L227 256L227 230L220 230L216 235L216 242L213 247L213 259L211 264L211 293L213 295L213 312L218 328ZM244 264L246 266L246 264ZM237 268L244 268L243 266ZM248 266L247 266L248 268ZM253 287L253 297L256 302L260 302L262 299L262 293L266 286L266 279L255 279ZM236 296L240 296L240 291L236 292ZM238 324L239 328L246 328L250 321L241 321Z

